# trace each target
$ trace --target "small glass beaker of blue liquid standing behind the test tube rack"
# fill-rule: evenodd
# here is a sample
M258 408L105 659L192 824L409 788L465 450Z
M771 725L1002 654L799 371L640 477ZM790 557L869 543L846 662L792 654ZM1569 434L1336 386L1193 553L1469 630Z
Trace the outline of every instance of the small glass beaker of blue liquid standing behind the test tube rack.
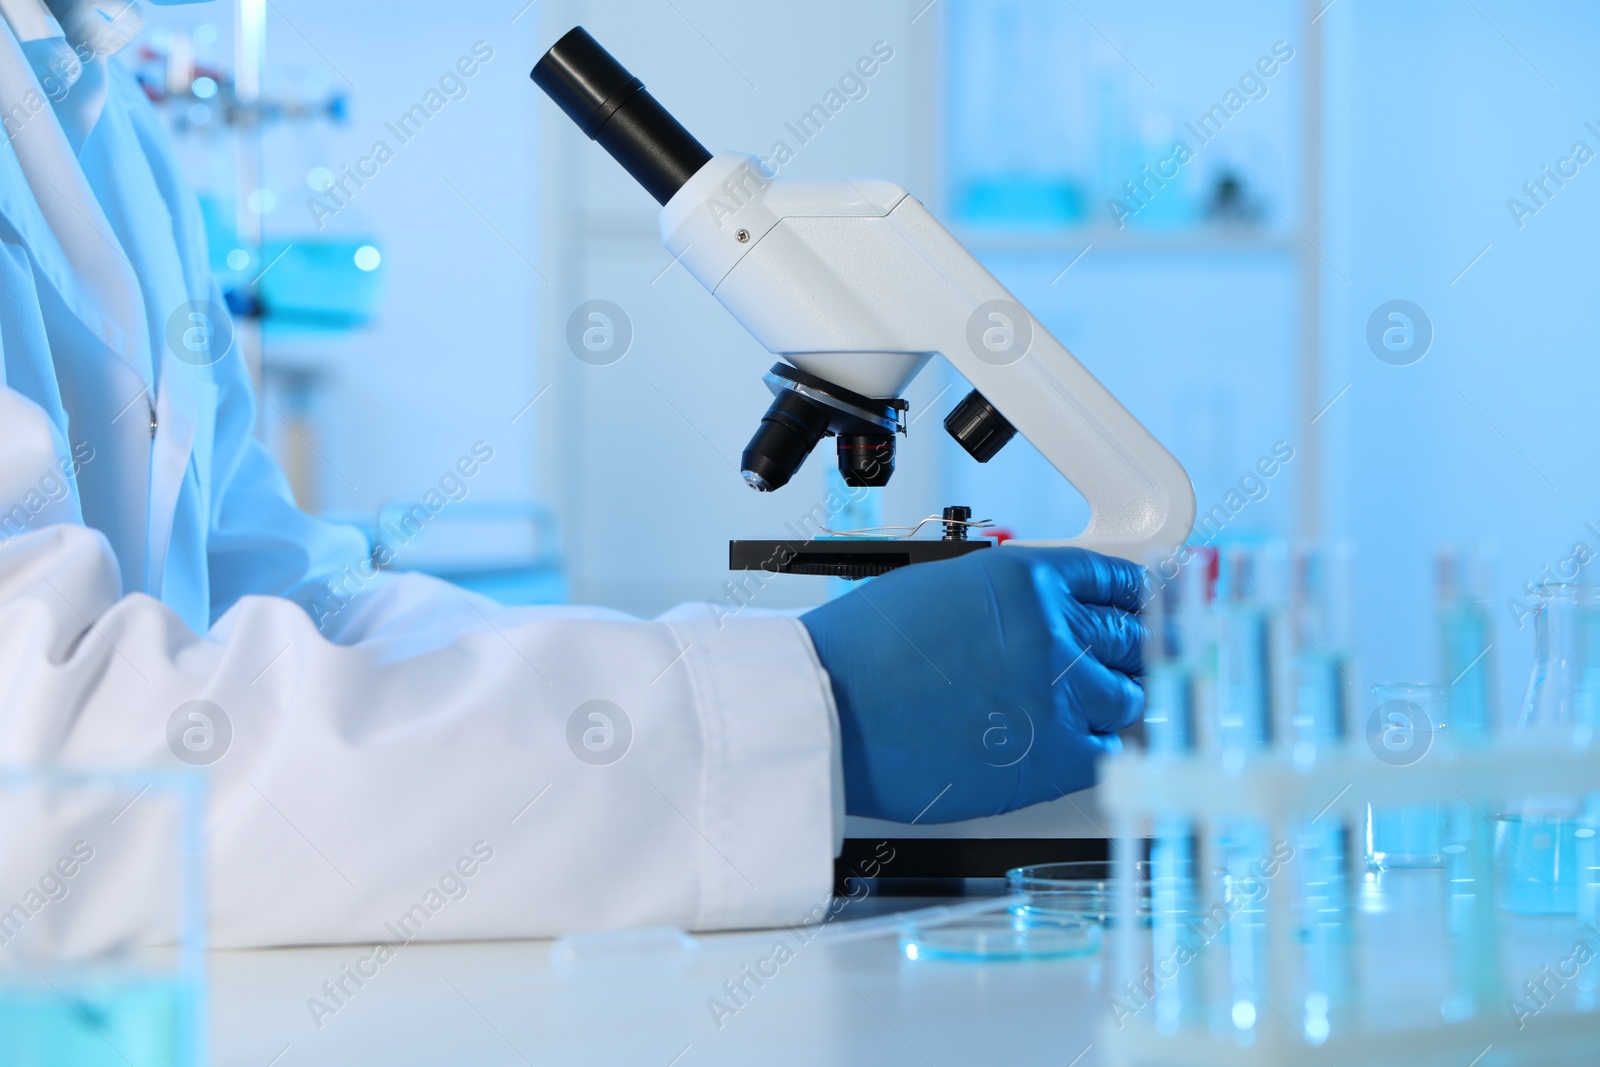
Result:
M1445 723L1446 686L1389 681L1373 686L1376 707L1366 720L1366 744L1384 763L1422 760ZM1440 867L1448 813L1438 805L1366 808L1366 865Z

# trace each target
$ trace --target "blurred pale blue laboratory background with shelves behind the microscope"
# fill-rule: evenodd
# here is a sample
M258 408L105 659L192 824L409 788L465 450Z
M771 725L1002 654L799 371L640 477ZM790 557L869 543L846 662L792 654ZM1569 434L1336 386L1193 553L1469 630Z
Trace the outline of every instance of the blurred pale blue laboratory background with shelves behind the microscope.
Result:
M1435 552L1482 552L1515 705L1530 584L1600 553L1592 5L146 8L120 61L200 192L301 504L386 537L491 450L395 566L654 614L749 600L728 539L782 536L837 475L819 450L781 493L741 482L771 357L528 80L579 22L712 150L782 142L784 178L918 195L1186 464L1197 541L1352 544L1366 677L1438 672ZM621 312L603 358L570 342L589 301ZM914 382L866 510L1077 533L1026 442L979 467L947 440L965 392L942 365ZM755 605L829 593L786 577Z

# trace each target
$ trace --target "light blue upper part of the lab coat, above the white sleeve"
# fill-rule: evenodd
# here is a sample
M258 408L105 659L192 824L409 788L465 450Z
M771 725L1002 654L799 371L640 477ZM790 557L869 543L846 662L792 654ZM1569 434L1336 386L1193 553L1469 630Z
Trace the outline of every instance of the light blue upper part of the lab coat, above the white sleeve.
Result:
M67 504L106 534L125 595L158 597L197 632L250 593L309 605L370 545L296 507L254 437L254 386L238 346L197 365L206 360L181 358L168 339L186 304L221 309L222 298L160 118L133 77L104 59L85 64L56 101L35 80L32 101L43 106L34 109L21 54L0 22L3 384L50 416ZM72 136L80 91L104 91L82 142ZM0 509L18 515L13 502ZM0 522L0 537L16 533Z

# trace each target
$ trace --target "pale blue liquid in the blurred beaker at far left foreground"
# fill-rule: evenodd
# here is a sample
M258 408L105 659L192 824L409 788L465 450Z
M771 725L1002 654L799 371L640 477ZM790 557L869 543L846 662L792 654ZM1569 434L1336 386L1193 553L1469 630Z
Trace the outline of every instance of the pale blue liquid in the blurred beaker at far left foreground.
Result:
M171 977L0 982L0 1067L192 1067L198 1009Z

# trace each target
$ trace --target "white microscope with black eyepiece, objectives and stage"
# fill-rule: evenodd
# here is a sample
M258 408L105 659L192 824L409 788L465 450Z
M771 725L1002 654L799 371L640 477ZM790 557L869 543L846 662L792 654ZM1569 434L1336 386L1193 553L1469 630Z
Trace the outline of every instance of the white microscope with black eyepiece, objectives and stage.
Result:
M752 490L781 490L824 437L846 485L886 485L906 432L901 394L942 355L973 386L944 419L962 448L989 462L1021 434L1088 501L1077 536L1006 544L1146 561L1189 536L1182 466L904 189L781 181L754 155L712 155L582 27L531 77L661 203L667 251L778 357L763 376L773 403L739 464ZM734 541L730 565L866 577L989 547L965 537L963 512L946 509L942 539ZM954 849L954 875L1010 854L1080 857L986 854Z

